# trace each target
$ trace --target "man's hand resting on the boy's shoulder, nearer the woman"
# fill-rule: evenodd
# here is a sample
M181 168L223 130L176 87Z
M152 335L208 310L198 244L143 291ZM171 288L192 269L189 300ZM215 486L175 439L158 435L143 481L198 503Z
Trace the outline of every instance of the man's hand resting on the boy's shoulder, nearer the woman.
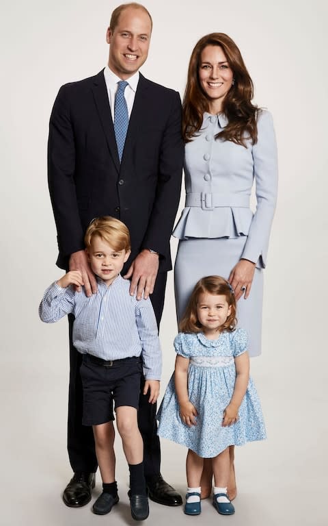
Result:
M131 279L130 294L135 294L137 288L137 299L148 299L149 295L154 292L156 276L159 271L159 255L150 253L149 250L143 250L132 262L125 279Z

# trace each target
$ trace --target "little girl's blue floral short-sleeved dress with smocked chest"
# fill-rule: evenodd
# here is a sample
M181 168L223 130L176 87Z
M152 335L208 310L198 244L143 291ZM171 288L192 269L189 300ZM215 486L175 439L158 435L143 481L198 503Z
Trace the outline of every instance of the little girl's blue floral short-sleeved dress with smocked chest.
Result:
M238 411L238 421L222 427L223 411L230 403L236 380L234 358L247 351L244 329L223 332L208 340L202 332L180 333L174 340L176 353L189 358L189 400L197 409L197 425L188 427L180 418L174 387L169 381L156 416L158 434L187 446L203 458L213 458L230 445L241 446L266 438L262 410L256 387L249 379L247 392Z

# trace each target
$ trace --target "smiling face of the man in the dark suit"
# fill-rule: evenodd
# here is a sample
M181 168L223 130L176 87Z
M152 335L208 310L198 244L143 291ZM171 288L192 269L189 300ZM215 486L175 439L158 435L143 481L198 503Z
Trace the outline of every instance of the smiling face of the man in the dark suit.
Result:
M146 61L152 25L146 12L126 8L120 14L114 31L107 29L108 65L120 79L126 80Z

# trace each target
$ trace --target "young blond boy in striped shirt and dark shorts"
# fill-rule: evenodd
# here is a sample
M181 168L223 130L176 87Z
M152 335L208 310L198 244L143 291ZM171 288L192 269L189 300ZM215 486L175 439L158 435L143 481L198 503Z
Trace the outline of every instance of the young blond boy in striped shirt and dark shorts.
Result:
M106 514L118 503L113 450L113 401L117 427L130 470L131 514L148 517L143 474L143 442L137 426L141 355L149 401L159 397L161 349L150 299L129 294L130 282L120 275L131 251L127 227L118 219L94 219L85 234L85 251L98 281L98 292L87 297L80 271L70 271L44 293L39 314L53 323L68 313L75 316L74 347L83 354L83 424L92 425L102 477L102 494L93 511ZM74 290L74 287L77 291Z

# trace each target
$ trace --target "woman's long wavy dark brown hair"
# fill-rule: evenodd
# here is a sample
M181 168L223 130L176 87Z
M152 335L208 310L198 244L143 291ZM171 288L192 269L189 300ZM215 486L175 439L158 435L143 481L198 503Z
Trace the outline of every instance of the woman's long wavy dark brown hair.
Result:
M193 139L199 132L204 112L209 110L209 100L200 86L198 71L200 58L206 46L219 46L226 55L234 75L234 84L223 99L223 113L228 125L215 138L231 140L237 145L246 146L246 140L255 144L258 139L256 120L257 106L251 103L254 86L244 64L238 47L230 36L224 33L210 33L198 40L189 62L187 86L182 103L182 135L185 142Z

